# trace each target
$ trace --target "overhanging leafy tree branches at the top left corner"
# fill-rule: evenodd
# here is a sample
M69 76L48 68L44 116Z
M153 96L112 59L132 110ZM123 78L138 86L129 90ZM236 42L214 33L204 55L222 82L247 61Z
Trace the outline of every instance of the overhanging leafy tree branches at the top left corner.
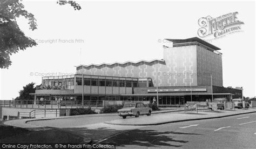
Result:
M75 10L81 7L75 1L57 1L59 5L70 4ZM24 5L19 0L0 1L0 68L8 69L11 65L10 56L19 50L36 46L35 40L26 37L24 32L19 29L16 18L25 17L28 19L29 29L37 29L34 15L24 9Z

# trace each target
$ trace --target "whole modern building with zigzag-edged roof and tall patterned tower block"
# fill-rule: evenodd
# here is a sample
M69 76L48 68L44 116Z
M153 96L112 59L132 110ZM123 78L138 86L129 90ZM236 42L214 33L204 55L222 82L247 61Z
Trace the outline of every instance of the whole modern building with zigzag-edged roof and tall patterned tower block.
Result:
M165 40L163 59L78 65L76 75L43 77L33 93L35 101L152 101L158 97L158 104L166 106L242 98L242 90L223 87L220 48L197 37Z

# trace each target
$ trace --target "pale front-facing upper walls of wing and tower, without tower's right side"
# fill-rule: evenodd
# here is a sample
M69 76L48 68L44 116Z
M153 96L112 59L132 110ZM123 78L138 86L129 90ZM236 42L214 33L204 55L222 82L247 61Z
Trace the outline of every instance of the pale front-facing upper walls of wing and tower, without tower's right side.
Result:
M159 86L196 86L197 72L196 45L164 49L165 62L155 60L150 63L126 63L84 67L85 75L101 75L116 77L152 78L156 86L158 72ZM158 70L157 70L158 69ZM82 73L82 69L77 69ZM184 75L187 74L188 75Z

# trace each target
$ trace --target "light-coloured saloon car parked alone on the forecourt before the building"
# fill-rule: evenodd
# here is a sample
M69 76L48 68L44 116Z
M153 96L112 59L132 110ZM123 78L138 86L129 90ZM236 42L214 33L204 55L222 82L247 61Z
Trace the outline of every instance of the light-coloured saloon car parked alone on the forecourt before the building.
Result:
M127 116L135 116L139 117L141 115L150 116L152 109L150 107L145 106L143 103L127 103L124 104L122 109L117 111L118 116L123 117L125 119Z

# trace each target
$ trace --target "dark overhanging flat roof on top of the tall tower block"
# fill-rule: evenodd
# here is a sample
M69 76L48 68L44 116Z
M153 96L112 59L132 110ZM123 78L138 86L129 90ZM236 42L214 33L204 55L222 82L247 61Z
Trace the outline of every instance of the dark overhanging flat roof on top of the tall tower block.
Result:
M201 43L203 45L208 46L209 48L211 48L213 50L221 50L217 46L212 45L212 44L210 44L210 43L206 42L205 40L202 40L202 39L200 39L198 37L192 37L192 38L187 38L187 39L165 39L165 40L169 40L173 44L198 42L198 43Z

